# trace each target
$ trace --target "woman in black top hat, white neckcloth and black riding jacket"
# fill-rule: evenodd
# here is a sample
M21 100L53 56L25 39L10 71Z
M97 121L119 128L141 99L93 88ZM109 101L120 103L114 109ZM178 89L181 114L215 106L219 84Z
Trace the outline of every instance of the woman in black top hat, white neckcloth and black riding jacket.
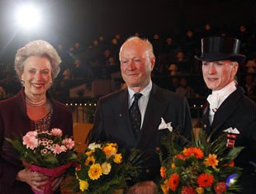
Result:
M239 64L245 56L239 54L240 41L229 37L201 39L202 74L211 95L209 106L203 112L203 129L207 134L214 130L212 139L227 132L227 146L243 146L235 165L243 168L238 184L239 193L256 193L256 103L244 95L235 80Z

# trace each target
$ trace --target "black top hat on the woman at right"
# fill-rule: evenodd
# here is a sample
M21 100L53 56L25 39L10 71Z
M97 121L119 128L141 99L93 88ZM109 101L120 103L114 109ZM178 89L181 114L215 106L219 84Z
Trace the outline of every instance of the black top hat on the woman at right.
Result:
M201 39L201 56L197 60L232 60L243 64L245 56L239 54L240 40L228 37L206 37Z

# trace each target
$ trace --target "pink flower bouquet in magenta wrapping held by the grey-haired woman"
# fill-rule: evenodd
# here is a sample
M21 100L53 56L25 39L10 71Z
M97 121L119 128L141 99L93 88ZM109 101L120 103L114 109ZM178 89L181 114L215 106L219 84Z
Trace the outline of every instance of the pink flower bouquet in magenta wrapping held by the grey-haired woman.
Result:
M49 183L41 188L44 194L52 194L53 179L64 174L78 161L74 141L63 137L62 130L57 128L41 132L29 131L22 140L7 140L17 149L26 168L51 177Z

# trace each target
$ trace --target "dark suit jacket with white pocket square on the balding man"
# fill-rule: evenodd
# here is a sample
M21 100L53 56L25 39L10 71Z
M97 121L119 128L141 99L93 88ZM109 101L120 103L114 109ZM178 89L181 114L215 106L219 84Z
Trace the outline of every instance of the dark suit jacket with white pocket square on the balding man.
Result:
M127 88L99 99L89 143L111 141L126 149L142 149L154 155L154 173L159 174L159 156L155 149L168 130L159 130L161 117L172 122L173 130L191 138L192 123L187 100L153 84L145 118L138 139L135 139L129 117Z

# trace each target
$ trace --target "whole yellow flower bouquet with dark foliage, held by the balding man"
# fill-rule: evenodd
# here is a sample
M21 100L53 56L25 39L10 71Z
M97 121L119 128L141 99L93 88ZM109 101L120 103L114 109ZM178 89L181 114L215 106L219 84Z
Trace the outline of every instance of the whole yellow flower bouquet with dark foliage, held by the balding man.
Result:
M84 194L126 192L147 180L152 159L140 149L120 149L116 143L92 143L82 154L74 177L66 187Z

